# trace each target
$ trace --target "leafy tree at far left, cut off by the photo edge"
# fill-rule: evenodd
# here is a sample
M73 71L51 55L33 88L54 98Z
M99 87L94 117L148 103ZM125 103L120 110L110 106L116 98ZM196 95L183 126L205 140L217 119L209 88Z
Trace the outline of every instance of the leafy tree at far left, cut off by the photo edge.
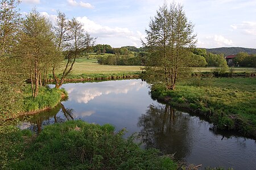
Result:
M21 21L18 5L19 1L0 1L0 120L10 118L22 103L22 64L13 52Z

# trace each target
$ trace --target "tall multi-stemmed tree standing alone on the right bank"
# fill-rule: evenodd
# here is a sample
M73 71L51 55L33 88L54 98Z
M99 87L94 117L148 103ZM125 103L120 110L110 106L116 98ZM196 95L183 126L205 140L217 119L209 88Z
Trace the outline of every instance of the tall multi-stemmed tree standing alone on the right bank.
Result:
M175 89L178 78L181 78L190 67L191 48L195 47L196 35L193 24L188 22L183 6L167 3L151 18L146 30L146 43L143 43L148 57L145 71L146 79L151 83L163 82L167 89Z

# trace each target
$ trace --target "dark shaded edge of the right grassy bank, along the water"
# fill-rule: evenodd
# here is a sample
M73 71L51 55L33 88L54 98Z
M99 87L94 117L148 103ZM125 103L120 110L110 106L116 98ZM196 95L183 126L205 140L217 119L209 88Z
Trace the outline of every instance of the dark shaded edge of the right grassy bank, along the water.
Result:
M179 107L181 109L185 109L187 111L202 115L207 119L208 122L213 123L214 128L216 130L220 129L220 130L236 131L241 136L245 136L246 138L251 138L256 140L256 127L253 125L250 125L249 122L246 122L245 120L243 120L241 117L239 117L239 115L225 113L228 116L228 119L234 122L234 127L230 127L229 124L227 124L227 125L224 125L225 128L223 128L223 126L222 128L220 128L218 127L218 125L222 123L221 120L223 118L222 117L223 115L216 114L217 111L214 110L214 108L211 108L211 109L209 107L205 107L203 109L200 107L195 108L195 106L200 104L198 103L200 101L200 98L197 98L197 101L195 100L193 102L185 101L183 103L180 103L180 101L175 101L176 96L162 96L161 92L162 92L162 89L155 88L153 91L150 92L150 94L153 99L156 99L160 103L168 104L174 107Z

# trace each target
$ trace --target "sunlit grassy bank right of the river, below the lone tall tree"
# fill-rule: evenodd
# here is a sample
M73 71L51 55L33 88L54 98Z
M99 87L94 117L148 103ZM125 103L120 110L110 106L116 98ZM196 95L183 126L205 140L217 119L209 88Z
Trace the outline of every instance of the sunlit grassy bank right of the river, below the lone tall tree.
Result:
M256 78L193 77L166 90L152 87L152 97L204 114L217 128L256 139Z

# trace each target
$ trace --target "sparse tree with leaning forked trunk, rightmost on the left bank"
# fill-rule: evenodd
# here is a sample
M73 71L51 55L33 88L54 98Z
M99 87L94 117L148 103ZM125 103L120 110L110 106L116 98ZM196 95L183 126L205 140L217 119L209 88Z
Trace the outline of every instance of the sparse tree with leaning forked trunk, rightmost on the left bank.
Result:
M63 56L65 57L65 65L61 78L57 77L56 70L63 68L61 65L62 62L54 64L52 69L55 88L58 89L63 85L65 77L71 73L76 59L80 57L86 48L88 49L90 45L93 46L95 39L84 31L82 24L76 18L68 20L65 14L61 12L57 16L55 34L59 50L63 52Z

